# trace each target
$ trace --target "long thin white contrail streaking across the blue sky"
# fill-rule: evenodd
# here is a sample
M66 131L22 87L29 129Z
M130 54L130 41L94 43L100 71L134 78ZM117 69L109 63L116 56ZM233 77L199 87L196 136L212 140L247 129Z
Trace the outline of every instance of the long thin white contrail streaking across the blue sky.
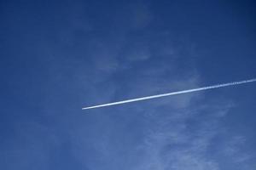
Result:
M152 95L152 96L147 96L147 97L142 97L142 98L136 98L136 99L125 99L125 100L122 100L122 101L117 101L117 102L103 104L103 105L94 105L94 106L90 106L90 107L84 107L84 108L82 108L82 110L94 109L94 108L98 108L98 107L105 107L105 106L109 106L109 105L121 105L121 104L125 104L125 103L131 103L131 102L145 100L145 99L161 98L161 97L171 96L171 95L176 95L176 94L188 94L188 93L207 90L207 89L212 89L212 88L223 88L223 87L226 87L226 86L235 86L235 85L243 84L243 83L247 83L247 82L256 82L256 78L249 79L249 80L244 80L244 81L239 81L239 82L228 82L228 83L223 83L223 84L216 84L216 85L213 85L213 86L207 86L207 87L203 87L203 88L192 88L192 89L189 89L189 90L182 90L182 91L177 91L177 92L172 92L172 93L167 93L167 94L157 94L157 95Z

